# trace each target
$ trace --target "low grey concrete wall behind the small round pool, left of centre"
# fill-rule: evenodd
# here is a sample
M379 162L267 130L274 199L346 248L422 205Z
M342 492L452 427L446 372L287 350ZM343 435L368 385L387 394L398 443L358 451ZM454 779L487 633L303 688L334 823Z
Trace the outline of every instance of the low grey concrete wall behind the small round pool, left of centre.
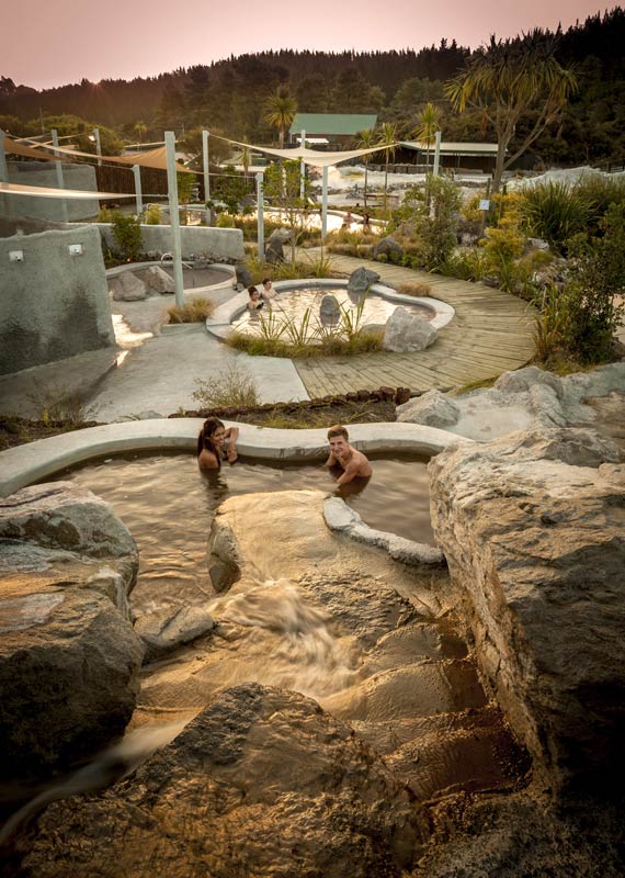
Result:
M115 238L110 223L96 223L105 244L115 249ZM156 252L159 258L162 254L173 249L171 240L171 226L141 225L144 252ZM182 258L203 256L215 262L239 261L245 258L243 233L240 228L213 228L206 226L181 226L180 238L182 244Z

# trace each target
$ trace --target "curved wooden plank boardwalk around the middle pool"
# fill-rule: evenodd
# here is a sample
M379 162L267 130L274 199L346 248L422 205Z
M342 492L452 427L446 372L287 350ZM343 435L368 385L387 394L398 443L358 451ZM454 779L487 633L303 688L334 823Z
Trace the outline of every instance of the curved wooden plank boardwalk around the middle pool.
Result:
M298 259L318 251L299 251ZM443 278L424 271L331 255L332 269L351 274L361 266L383 282L428 283L430 296L452 305L456 315L427 350L416 353L361 353L294 360L310 396L376 390L383 385L427 391L455 387L519 369L534 356L534 309L521 299L481 283Z

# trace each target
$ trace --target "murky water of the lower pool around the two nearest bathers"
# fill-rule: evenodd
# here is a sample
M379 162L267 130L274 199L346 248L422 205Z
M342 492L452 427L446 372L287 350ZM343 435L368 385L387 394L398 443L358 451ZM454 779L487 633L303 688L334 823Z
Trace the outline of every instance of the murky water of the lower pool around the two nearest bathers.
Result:
M427 459L373 461L360 493L341 494L377 530L433 543ZM90 463L57 476L89 488L114 507L135 538L140 558L133 607L202 603L214 596L206 571L206 541L215 509L227 497L269 491L337 491L320 464L283 465L238 461L204 477L192 454L135 455ZM362 486L361 486L362 487ZM280 539L271 521L259 521L268 540Z

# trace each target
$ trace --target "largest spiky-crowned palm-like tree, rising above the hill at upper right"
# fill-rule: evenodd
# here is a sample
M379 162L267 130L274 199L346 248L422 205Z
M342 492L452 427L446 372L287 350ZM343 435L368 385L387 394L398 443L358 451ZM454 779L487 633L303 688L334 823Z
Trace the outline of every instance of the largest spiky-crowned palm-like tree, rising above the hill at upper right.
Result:
M559 64L557 45L557 35L539 29L514 40L491 36L490 43L476 49L465 69L445 86L445 95L455 110L480 109L497 133L493 192L499 191L505 168L558 119L577 91L575 68ZM534 125L513 155L507 156L520 116L530 111Z

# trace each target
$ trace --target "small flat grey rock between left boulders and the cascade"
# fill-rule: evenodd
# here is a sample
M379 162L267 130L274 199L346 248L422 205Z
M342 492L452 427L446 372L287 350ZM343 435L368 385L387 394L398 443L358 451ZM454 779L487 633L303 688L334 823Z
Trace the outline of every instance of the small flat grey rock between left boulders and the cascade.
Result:
M146 662L160 658L184 643L206 634L215 627L204 607L178 607L139 616L135 631L146 648Z

